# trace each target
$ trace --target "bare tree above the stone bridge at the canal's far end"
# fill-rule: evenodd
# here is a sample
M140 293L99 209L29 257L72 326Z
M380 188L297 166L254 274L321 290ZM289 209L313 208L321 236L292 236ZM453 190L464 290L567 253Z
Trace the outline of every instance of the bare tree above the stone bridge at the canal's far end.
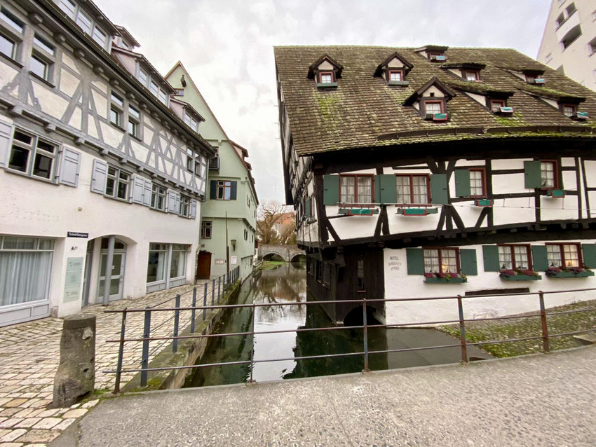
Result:
M267 245L295 245L296 217L290 207L267 200L257 210L257 238Z

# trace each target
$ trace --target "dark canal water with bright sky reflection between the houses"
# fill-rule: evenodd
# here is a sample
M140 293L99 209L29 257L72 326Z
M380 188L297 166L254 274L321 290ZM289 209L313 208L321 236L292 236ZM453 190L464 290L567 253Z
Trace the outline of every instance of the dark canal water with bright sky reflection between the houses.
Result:
M246 280L236 304L304 303L306 301L306 270L304 264L287 263L274 270L263 270L254 280ZM311 298L313 301L314 298ZM363 357L334 357L326 359L298 359L311 355L340 352L362 352L363 331L342 329L333 331L300 331L299 328L330 327L320 305L292 305L255 308L255 331L290 330L285 333L257 334L210 338L205 355L198 364L237 362L255 359L286 359L262 362L253 366L257 382L287 378L327 376L355 373L363 369ZM226 310L215 333L247 332L252 329L252 308ZM435 329L368 329L369 350L419 348L431 345L452 345L456 338ZM470 357L487 358L484 352L468 347ZM459 348L440 348L412 352L391 352L370 355L370 369L395 369L410 366L459 362ZM184 387L245 383L250 378L250 365L206 366L195 369Z

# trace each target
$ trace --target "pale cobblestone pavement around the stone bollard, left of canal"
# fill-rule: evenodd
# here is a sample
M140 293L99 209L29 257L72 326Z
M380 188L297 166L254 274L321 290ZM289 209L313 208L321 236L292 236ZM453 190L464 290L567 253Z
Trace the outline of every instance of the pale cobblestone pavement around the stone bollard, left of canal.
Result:
M203 303L203 282L197 284L197 305ZM208 303L211 300L212 282L208 283ZM181 305L192 303L191 285L154 292L142 298L114 301L105 308L90 305L82 313L97 317L95 338L95 389L113 390L114 374L105 369L115 369L118 344L104 343L120 337L121 313L104 313L104 310L145 308L157 306L174 307L172 299L181 294ZM215 282L217 300L217 280ZM161 305L160 305L161 304ZM152 312L151 336L172 334L173 312ZM129 313L126 318L126 336L142 337L144 316L142 312ZM180 330L190 322L190 312L181 312ZM161 326L160 326L161 324ZM159 327L158 327L159 326ZM68 427L76 418L84 415L97 400L88 401L72 408L48 408L53 396L53 381L60 361L60 336L62 319L44 318L33 322L0 327L0 447L44 446ZM169 343L151 342L149 361ZM123 368L140 365L142 342L126 343ZM133 378L133 373L122 375L122 384Z

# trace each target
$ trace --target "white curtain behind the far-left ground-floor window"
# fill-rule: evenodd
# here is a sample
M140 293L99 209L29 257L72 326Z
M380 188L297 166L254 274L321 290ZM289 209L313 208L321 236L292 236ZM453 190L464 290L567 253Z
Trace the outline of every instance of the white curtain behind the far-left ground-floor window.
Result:
M48 298L51 252L0 252L0 305Z

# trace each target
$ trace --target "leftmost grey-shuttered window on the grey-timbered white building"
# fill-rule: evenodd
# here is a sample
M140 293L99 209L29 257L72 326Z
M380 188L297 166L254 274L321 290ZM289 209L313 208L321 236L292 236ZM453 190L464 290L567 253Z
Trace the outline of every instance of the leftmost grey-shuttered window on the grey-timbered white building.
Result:
M15 130L8 167L33 177L53 180L56 153L55 144Z

